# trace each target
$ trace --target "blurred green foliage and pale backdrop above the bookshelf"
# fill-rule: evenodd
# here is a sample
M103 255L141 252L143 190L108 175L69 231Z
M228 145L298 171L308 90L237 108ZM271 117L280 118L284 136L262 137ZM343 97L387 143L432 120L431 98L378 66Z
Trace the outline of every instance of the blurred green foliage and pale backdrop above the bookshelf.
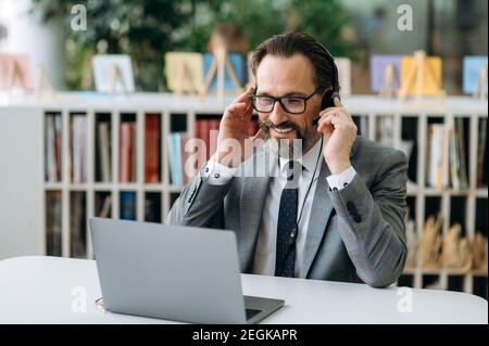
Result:
M86 30L71 28L77 3ZM402 39L401 4L413 9ZM371 93L372 54L424 49L442 57L443 88L459 94L463 56L487 55L487 11L486 0L0 0L0 52L29 53L66 90L93 88L84 76L95 54L129 54L137 90L165 91L164 53L206 52L213 28L233 23L249 51L272 35L308 31L352 60L352 93Z

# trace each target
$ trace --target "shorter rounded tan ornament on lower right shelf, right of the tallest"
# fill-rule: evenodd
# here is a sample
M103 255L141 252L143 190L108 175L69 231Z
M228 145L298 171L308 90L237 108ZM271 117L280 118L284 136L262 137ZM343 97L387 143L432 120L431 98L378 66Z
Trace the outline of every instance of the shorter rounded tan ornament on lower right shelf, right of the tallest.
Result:
M472 252L468 240L461 236L462 226L453 225L443 238L443 267L468 271L472 267Z

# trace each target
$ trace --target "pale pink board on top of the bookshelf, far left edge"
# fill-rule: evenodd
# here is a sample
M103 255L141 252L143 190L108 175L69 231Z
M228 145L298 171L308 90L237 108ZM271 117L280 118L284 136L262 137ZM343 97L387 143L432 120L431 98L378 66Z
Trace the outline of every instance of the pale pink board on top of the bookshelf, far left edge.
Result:
M26 54L0 54L0 89L26 92L30 86L29 57Z

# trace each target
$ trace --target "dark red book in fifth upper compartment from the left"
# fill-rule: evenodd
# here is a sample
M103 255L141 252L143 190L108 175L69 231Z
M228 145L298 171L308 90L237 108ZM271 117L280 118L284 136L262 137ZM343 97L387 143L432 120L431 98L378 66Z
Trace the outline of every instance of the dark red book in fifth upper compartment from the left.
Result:
M148 114L145 123L145 181L160 182L160 115Z

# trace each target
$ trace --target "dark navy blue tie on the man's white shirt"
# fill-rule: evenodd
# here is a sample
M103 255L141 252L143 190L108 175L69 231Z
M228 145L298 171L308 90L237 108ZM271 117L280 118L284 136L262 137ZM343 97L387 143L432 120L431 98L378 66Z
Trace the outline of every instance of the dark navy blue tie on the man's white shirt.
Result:
M293 278L297 236L298 181L302 165L290 161L287 183L281 192L277 222L275 275Z

